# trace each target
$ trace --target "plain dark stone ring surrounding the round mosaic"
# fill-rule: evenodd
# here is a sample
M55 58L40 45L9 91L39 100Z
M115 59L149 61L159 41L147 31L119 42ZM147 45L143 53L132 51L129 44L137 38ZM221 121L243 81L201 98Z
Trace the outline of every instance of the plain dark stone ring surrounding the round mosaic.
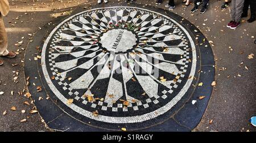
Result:
M105 5L108 7L109 5ZM149 10L154 10L156 12L163 13L164 15L171 16L174 20L179 21L179 24L183 25L185 29L189 32L191 37L193 38L197 53L199 53L200 57L197 56L197 67L199 69L196 70L195 77L196 80L193 80L192 84L196 85L198 83L203 82L203 86L196 86L195 88L189 88L189 93L185 94L184 97L175 105L175 107L180 107L179 109L172 109L172 112L169 112L168 115L164 114L165 119L167 116L169 118L167 120L160 120L158 124L152 125L151 127L141 128L137 127L136 131L191 131L196 125L200 122L201 117L204 114L204 111L207 107L210 94L212 93L211 83L214 81L215 69L214 69L214 57L213 51L204 37L204 35L195 27L195 25L191 24L188 20L185 20L181 16L174 14L173 12L163 10L162 8L157 8L154 6L142 6L139 4L131 4L127 5L125 3L118 6L131 6L131 7L142 7ZM102 5L94 6L93 8L102 7ZM73 14L77 14L81 11L84 11L84 8L77 8L72 12ZM71 16L72 16L71 15ZM44 87L43 79L41 78L38 70L38 66L40 66L40 59L38 61L34 60L36 54L40 54L40 49L36 49L37 46L42 45L44 40L46 40L47 35L51 33L51 30L55 28L60 21L67 19L69 16L64 16L61 18L56 18L52 21L52 24L46 24L42 27L42 30L38 31L34 35L34 41L30 42L27 46L26 56L24 59L25 63L25 76L30 76L30 85L28 85L28 90L32 94L32 98L35 99L35 105L47 123L49 128L57 129L60 131L121 131L121 128L124 126L116 127L116 129L107 129L94 127L89 125L88 123L83 123L80 120L73 118L73 116L69 115L67 112L62 110L55 102L54 99L46 99L47 91ZM197 37L197 40L196 40ZM207 47L205 47L207 45ZM197 72L197 71L201 72ZM35 77L38 77L35 79ZM42 86L42 92L37 92L36 86L32 85L35 83L36 86ZM204 99L199 101L200 96L205 96ZM38 101L39 97L43 97L41 101ZM192 105L192 100L195 99L197 102L195 105ZM93 122L93 121L92 121ZM128 131L129 128L127 128Z

